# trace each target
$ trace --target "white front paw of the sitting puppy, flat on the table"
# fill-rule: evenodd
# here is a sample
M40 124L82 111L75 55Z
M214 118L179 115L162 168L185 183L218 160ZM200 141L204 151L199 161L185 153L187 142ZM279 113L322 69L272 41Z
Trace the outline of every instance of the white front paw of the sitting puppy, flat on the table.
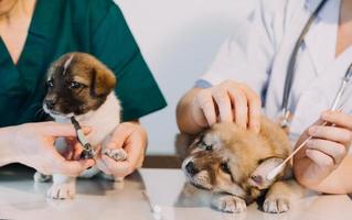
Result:
M51 199L73 199L76 194L76 186L73 183L53 184L47 190Z

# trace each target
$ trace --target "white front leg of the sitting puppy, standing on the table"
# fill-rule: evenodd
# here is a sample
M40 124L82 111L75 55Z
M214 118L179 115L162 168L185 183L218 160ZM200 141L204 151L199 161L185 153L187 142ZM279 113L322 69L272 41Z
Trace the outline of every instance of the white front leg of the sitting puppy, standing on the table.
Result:
M47 191L52 199L72 199L76 194L76 178L60 174L53 175L53 185Z

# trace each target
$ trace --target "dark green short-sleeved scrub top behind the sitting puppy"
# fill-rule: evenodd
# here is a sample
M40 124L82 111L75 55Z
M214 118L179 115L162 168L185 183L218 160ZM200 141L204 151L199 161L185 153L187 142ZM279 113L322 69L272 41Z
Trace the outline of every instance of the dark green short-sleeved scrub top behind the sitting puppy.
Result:
M17 65L0 38L0 127L43 120L45 75L68 52L85 52L117 76L124 121L166 107L119 8L111 0L38 0Z

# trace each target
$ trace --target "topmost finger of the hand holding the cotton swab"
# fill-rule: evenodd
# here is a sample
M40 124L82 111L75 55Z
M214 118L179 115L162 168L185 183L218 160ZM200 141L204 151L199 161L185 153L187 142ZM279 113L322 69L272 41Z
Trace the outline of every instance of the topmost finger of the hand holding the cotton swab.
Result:
M352 117L340 111L324 111L321 119L352 131Z

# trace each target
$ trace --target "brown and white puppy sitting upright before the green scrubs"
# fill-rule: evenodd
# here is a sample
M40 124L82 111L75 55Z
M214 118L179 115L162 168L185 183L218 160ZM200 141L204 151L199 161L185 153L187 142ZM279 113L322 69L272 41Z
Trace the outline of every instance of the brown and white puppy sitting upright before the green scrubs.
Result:
M47 94L43 109L58 123L71 123L71 117L82 124L92 128L88 142L116 161L125 160L124 150L104 148L105 141L120 123L120 103L114 89L116 77L104 64L84 53L70 53L60 57L47 72ZM55 146L60 152L67 150L64 139L57 139ZM93 177L98 174L92 167L82 174ZM34 175L36 182L49 180L51 176L40 173ZM117 180L117 179L116 179ZM47 196L54 199L72 198L75 195L75 178L54 174L53 186Z

